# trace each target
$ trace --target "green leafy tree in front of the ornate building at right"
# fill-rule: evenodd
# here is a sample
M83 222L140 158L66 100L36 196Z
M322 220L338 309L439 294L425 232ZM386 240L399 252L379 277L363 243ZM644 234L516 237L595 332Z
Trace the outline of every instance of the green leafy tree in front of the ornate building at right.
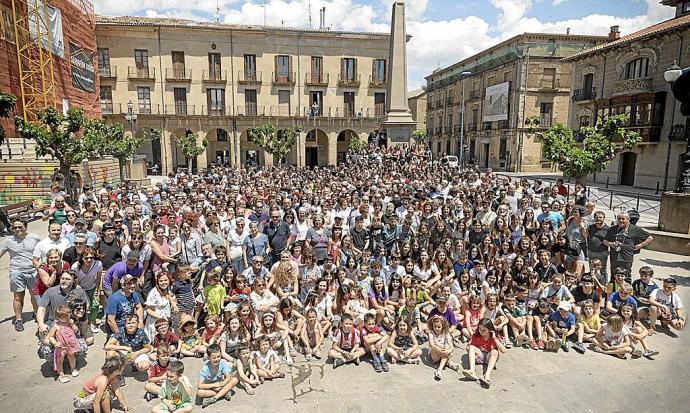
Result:
M633 149L640 142L640 135L625 129L628 115L614 115L601 119L595 126L580 128L584 136L582 146L578 146L570 129L556 124L544 133L542 138L544 157L556 162L566 176L582 182L588 174L603 171L623 151ZM525 124L532 132L538 121L528 119Z

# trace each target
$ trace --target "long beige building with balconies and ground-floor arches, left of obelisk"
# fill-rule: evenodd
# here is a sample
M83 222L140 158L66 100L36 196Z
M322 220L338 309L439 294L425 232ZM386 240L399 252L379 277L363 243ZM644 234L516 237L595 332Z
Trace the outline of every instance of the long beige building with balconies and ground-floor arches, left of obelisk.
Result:
M176 138L206 138L199 168L276 163L247 138L270 122L303 128L285 161L335 165L353 136L379 129L386 101L389 34L98 17L101 107L136 128L159 128L141 153L162 172L183 166Z

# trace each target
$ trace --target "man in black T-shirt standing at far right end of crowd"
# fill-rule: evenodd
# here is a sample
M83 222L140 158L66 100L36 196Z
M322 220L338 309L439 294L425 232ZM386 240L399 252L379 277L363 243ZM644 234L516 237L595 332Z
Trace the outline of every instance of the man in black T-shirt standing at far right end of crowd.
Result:
M618 225L606 232L604 244L610 248L611 272L614 268L623 267L627 270L626 281L630 282L633 256L654 239L649 232L630 223L627 212L620 212L616 216Z

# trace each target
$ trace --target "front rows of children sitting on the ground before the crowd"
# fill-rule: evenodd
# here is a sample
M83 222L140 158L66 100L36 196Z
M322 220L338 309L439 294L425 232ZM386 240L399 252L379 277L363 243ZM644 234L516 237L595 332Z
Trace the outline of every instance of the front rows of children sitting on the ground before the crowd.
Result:
M484 387L491 385L499 355L513 342L535 350L568 351L572 341L572 347L580 353L586 351L584 343L590 342L594 351L623 359L628 354L633 358L653 357L658 352L649 347L647 337L654 333L657 319L664 327L681 330L685 314L682 301L674 292L676 280L667 278L663 288L658 288L651 281L652 274L651 268L643 267L634 286L616 274L607 288L605 302L594 288L595 277L590 274L583 275L577 286L563 285L563 277L556 274L546 286L530 280L515 292L501 294L492 289L463 294L462 288L460 294L451 294L451 286L445 286L432 305L425 299L417 300L415 291L399 308L392 323L384 322L380 314L371 310L361 318L344 312L332 321L319 317L314 307L302 315L293 309L289 299L282 300L277 311L263 311L259 316L249 302L242 301L225 323L217 316L207 317L200 336L192 317L181 318L179 337L168 320L159 320L154 352L150 352L145 335L139 334L137 316L131 315L121 334L114 335L106 344L102 374L84 385L74 398L74 405L94 406L98 400L101 411L109 411L114 396L127 409L113 380L130 361L140 371L148 369L147 400L160 398L152 411L191 411L192 386L183 376L184 366L178 358L207 359L199 374L196 394L205 407L221 399L229 400L235 386L254 394L254 388L265 380L284 377L281 361L291 364L299 344L307 360L321 358L327 337L332 341L328 357L333 360L334 369L350 362L358 365L360 358L369 354L376 372L389 371L387 356L396 364L419 363L423 353L420 345L428 341L429 361L438 366L436 380L442 379L446 367L460 370L451 361L451 355L465 341L469 368L462 370L462 374ZM58 322L48 337L60 349L56 357L67 357L72 365L74 343L69 338L74 326L68 315L63 317L63 312L56 312ZM427 316L426 323L421 321L423 314ZM649 327L642 324L641 318L649 319ZM250 349L251 345L255 351ZM284 352L284 358L279 351ZM155 362L149 363L149 357ZM62 360L59 361L61 365ZM477 364L485 366L481 376L475 372Z

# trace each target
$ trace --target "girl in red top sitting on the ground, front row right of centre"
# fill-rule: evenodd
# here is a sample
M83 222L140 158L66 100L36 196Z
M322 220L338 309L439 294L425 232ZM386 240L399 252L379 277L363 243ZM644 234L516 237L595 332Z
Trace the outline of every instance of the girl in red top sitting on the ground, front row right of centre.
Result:
M505 353L505 351L503 339L496 334L493 322L488 318L482 318L467 345L470 368L463 370L462 374L468 379L479 380L488 388L491 386L491 372L498 363L500 353ZM476 364L486 364L486 372L482 377L478 377L474 371Z

